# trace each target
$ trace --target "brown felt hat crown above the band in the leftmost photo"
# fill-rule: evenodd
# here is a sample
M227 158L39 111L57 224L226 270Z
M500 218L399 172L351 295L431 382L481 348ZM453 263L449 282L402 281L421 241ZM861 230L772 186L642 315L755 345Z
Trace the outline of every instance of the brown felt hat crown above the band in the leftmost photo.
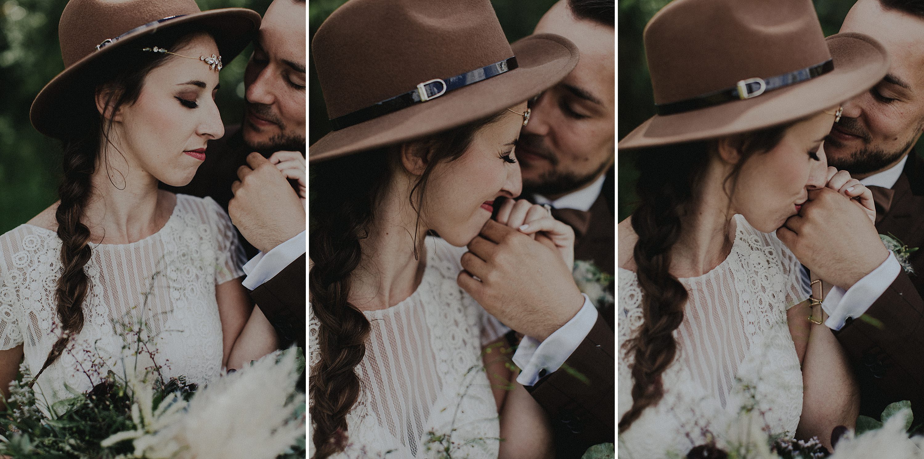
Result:
M194 0L70 0L58 39L65 68L96 51L106 39L158 19L201 12Z

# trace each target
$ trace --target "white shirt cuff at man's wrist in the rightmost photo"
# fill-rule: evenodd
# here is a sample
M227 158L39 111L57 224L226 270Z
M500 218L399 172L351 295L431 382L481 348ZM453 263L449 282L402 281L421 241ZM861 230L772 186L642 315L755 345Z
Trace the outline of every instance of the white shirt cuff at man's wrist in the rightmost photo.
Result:
M902 266L890 250L889 258L882 261L879 268L863 276L849 290L833 286L821 303L821 308L830 316L824 324L832 330L841 330L847 319L857 319L865 314L889 285L892 285L899 272L902 272Z

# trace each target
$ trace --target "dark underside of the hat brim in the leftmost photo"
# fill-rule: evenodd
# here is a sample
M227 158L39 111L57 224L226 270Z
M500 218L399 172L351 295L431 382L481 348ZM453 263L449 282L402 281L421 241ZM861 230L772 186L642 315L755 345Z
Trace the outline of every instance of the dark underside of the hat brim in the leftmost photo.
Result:
M128 46L136 39L164 30L183 32L206 31L212 34L218 52L230 63L253 40L260 29L260 14L247 8L221 8L170 19L156 28L140 30L120 38L103 49L86 55L48 82L32 101L29 117L32 126L44 135L56 139L65 137L73 123L70 104L75 95L86 91L99 77L94 74L97 64Z

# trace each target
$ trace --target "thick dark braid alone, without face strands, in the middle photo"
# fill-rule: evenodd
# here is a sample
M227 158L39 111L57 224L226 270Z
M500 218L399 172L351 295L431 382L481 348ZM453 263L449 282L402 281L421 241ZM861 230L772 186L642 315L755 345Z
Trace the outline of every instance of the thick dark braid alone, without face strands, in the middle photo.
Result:
M381 184L387 170L385 152L370 153L362 153L362 161L378 163L378 167L360 168L366 176L345 180L343 175L352 175L356 169L346 167L343 161L332 161L322 164L322 174L311 177L311 187L325 196L311 203L315 216L309 246L313 262L309 273L311 309L321 325L320 348L313 350L318 352L319 360L310 369L309 380L316 459L344 449L346 413L359 397L359 377L354 368L366 355L370 324L349 302L350 276L362 259L359 240L371 223L376 193L359 195L356 188L351 192L345 185Z

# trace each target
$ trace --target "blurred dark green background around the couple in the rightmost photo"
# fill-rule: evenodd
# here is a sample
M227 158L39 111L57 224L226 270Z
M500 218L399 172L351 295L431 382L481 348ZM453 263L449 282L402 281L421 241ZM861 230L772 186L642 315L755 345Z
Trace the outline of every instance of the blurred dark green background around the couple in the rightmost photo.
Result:
M645 51L642 43L642 30L648 20L668 0L619 0L618 11L619 37L618 54L618 112L616 139L622 139L632 129L654 115L654 97L648 66L645 63ZM837 33L841 23L854 6L855 0L814 0L815 10L821 21L825 36ZM915 147L918 154L922 151L922 142ZM625 219L635 208L636 171L629 162L628 155L619 155L619 221Z

